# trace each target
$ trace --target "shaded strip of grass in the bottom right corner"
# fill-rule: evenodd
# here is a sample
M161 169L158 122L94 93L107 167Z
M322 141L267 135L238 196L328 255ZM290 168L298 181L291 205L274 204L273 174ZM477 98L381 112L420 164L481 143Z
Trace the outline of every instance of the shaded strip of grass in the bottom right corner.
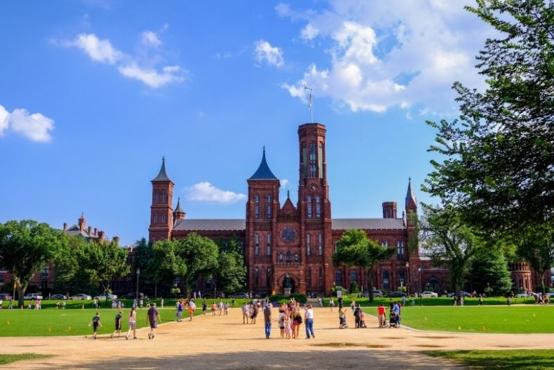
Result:
M554 369L554 352L549 349L427 351L425 354L453 360L472 369Z

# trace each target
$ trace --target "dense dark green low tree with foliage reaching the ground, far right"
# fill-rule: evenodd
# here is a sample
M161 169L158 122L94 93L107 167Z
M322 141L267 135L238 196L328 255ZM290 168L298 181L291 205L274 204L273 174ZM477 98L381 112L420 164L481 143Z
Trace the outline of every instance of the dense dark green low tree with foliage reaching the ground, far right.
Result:
M499 248L479 249L472 258L468 275L476 292L490 288L492 294L503 295L512 289L508 261Z

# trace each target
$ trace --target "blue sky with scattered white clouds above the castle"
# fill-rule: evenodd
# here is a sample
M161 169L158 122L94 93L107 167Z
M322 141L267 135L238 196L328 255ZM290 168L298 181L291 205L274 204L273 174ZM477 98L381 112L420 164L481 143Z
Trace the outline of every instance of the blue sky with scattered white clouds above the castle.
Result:
M166 157L188 218L243 218L262 147L296 203L298 125L327 126L334 218L404 208L431 171L426 120L483 87L471 1L2 1L0 222L148 237ZM400 212L399 212L400 217Z

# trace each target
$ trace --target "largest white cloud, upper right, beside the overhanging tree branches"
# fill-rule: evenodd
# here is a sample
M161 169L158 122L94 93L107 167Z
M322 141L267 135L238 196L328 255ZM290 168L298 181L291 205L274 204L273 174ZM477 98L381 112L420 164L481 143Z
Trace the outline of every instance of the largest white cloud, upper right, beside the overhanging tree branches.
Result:
M459 80L482 88L474 56L494 30L463 9L471 0L328 0L325 10L276 6L281 17L300 23L300 38L328 60L307 65L296 82L281 84L306 102L303 87L352 112L391 107L451 114L451 87ZM432 19L432 21L429 21Z

